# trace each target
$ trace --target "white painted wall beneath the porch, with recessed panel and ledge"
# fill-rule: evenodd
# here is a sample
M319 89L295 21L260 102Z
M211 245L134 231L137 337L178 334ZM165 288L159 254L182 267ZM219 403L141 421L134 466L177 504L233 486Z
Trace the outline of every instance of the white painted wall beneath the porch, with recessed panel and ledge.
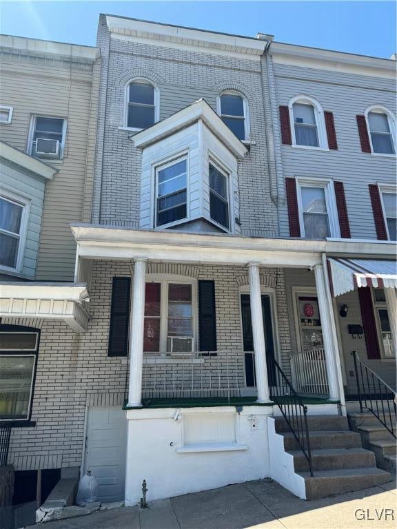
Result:
M272 406L244 406L240 413L235 408L221 406L128 410L125 504L139 502L143 479L149 490L147 499L153 500L269 476L267 417L272 411ZM200 415L201 426L193 419L192 430L194 414ZM227 415L228 424L225 450L213 442L212 448L218 449L207 451L205 448L221 427L222 414ZM214 415L218 417L214 419ZM190 433L185 436L188 422ZM189 446L186 441L192 444L200 436L201 448L205 451L177 452ZM231 449L233 444L235 449Z

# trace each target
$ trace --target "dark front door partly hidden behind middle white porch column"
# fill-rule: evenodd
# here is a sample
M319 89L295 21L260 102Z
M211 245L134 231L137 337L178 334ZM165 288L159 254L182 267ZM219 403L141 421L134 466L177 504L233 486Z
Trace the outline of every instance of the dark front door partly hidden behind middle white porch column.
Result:
M268 294L262 294L261 300L263 330L265 331L267 380L269 382L269 386L274 386L274 380L276 380L274 364L268 360L269 356L274 358L274 337L270 296ZM245 351L245 382L247 387L252 387L256 384L255 362L254 355L252 353L252 351L254 351L254 338L252 336L250 294L241 294L241 320L243 323L243 346Z

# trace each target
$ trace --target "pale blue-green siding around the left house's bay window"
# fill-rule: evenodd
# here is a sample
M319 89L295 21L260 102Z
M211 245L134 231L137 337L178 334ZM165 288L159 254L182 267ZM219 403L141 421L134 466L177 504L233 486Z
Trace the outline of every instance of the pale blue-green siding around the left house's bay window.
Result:
M39 253L45 182L42 178L30 172L24 172L17 165L10 165L3 159L0 161L0 193L7 195L7 192L10 191L12 194L28 199L30 202L28 206L26 242L23 249L19 251L23 252L21 275L29 279L34 279ZM6 280L9 281L10 276Z

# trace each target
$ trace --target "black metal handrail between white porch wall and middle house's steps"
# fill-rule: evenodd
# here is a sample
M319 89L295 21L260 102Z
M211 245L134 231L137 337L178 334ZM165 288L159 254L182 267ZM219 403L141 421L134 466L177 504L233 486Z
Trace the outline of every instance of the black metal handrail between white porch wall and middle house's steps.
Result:
M285 422L287 422L299 448L307 459L312 476L312 450L310 449L309 428L307 426L307 406L303 404L302 397L296 393L284 371L271 355L267 356L267 371L270 397L280 408Z

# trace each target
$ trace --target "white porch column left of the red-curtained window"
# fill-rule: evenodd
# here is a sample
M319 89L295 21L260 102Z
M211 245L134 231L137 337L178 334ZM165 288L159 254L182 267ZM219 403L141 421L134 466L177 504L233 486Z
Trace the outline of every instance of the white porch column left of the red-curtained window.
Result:
M146 260L136 259L130 324L130 384L128 406L142 406L143 323L145 315Z

